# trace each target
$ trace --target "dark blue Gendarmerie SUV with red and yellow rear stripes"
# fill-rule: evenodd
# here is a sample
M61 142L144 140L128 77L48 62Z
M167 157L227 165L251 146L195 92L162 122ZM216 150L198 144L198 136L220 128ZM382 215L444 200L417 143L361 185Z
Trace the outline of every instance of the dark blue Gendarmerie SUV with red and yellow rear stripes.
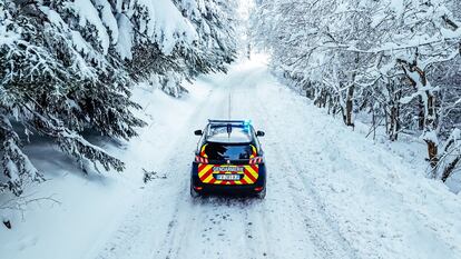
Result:
M266 195L266 167L258 137L247 120L208 120L192 167L190 195Z

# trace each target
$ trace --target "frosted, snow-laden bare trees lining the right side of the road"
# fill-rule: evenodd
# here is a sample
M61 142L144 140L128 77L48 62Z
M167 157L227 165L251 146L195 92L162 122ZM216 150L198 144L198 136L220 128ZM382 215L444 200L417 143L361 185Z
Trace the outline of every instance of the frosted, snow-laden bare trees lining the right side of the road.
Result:
M253 38L279 78L349 127L424 141L429 177L459 170L459 1L258 2Z

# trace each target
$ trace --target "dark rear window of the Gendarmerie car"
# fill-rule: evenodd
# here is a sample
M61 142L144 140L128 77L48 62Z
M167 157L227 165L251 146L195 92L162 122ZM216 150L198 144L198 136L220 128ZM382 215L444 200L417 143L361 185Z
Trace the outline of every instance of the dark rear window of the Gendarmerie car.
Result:
M208 143L205 153L209 160L249 159L253 153L249 145Z

